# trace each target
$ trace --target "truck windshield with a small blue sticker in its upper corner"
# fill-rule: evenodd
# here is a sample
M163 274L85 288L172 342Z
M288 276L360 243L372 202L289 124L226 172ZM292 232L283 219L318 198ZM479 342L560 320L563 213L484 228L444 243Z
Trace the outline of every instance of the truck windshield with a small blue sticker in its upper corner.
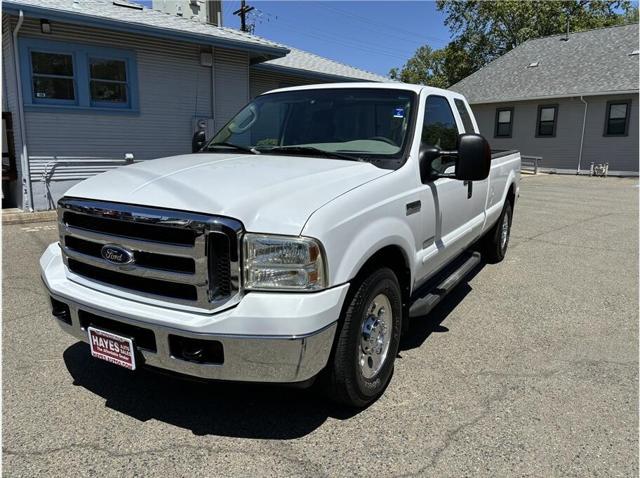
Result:
M388 88L266 94L243 108L204 149L399 160L409 141L414 101L414 93Z

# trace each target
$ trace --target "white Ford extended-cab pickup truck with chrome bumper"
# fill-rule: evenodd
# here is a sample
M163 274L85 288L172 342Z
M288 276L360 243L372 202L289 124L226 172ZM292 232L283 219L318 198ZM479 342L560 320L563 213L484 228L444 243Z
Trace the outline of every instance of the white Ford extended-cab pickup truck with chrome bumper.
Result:
M465 98L402 83L263 94L194 154L95 176L40 259L53 315L136 369L309 385L362 407L401 333L500 261L520 155Z

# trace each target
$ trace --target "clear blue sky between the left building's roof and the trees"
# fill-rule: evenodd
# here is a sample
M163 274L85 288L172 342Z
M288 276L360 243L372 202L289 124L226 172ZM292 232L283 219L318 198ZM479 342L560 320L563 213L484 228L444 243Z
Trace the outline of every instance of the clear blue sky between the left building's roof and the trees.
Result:
M422 45L449 42L431 1L247 1L255 34L287 46L387 75ZM223 1L223 25L240 27L239 0Z

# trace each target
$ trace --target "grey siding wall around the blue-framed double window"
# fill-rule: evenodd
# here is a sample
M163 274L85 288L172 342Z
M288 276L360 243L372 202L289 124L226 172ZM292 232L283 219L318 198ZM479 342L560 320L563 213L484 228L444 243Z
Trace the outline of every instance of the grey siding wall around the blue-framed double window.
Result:
M11 29L16 21L11 17ZM10 58L6 51L10 42L5 41L11 30L6 28L6 23L3 16L3 63L11 84L14 72L6 61ZM43 171L45 165L51 167L52 157L117 159L133 153L136 160L147 160L190 153L194 117L214 118L215 125L220 127L249 98L246 52L216 48L214 68L211 68L200 65L200 52L210 52L209 46L58 22L52 22L51 27L52 34L44 35L40 32L39 20L26 19L20 35L134 51L139 113L28 110L25 114L27 145L37 209L51 207L81 178L109 169L91 166L89 162L60 165L45 183ZM9 107L13 108L16 93L8 93ZM17 110L17 106L15 108Z

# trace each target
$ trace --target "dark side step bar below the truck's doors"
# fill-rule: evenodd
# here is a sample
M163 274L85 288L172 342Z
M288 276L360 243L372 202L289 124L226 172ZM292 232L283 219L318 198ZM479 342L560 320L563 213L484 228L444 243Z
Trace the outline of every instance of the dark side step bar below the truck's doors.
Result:
M429 281L412 297L409 307L409 317L423 317L431 312L438 303L457 286L467 274L480 263L479 252L464 255L445 269L445 275L438 275L434 281Z

